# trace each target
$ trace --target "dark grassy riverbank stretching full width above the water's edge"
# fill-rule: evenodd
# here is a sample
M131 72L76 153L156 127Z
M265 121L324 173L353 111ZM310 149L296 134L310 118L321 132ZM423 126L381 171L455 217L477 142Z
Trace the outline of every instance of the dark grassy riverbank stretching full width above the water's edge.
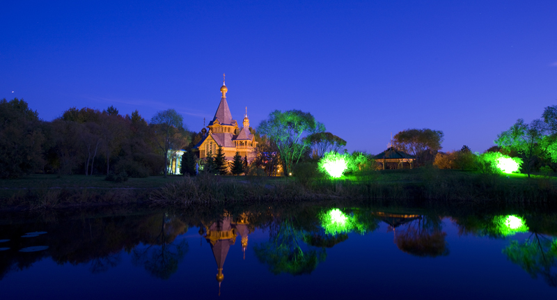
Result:
M94 205L147 204L189 207L221 203L299 203L361 200L407 205L557 206L554 177L486 175L421 168L375 171L329 180L324 177L275 178L201 175L130 178L32 175L0 180L0 209L43 210Z

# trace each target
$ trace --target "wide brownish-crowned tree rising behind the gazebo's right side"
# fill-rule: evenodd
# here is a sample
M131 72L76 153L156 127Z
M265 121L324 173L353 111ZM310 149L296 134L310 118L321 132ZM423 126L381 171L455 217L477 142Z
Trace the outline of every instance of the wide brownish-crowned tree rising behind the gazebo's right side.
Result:
M444 133L432 129L406 129L395 134L393 142L399 150L414 155L423 164L427 150L432 155L442 149Z

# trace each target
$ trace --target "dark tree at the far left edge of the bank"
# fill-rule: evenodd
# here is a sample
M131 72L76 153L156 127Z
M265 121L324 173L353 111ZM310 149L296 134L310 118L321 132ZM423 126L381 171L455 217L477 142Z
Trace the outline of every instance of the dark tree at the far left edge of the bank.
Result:
M0 177L20 177L43 165L42 132L37 111L24 100L0 100Z

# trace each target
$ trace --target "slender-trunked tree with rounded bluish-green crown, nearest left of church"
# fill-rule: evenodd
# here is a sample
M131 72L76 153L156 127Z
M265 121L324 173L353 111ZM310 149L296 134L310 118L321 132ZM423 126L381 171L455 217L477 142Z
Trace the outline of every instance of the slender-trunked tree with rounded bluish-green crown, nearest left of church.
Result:
M183 129L184 118L174 109L166 109L166 111L159 111L151 118L151 125L155 127L155 133L162 138L162 141L157 139L157 145L164 152L164 177L168 173L168 149L171 145L171 136L178 130Z

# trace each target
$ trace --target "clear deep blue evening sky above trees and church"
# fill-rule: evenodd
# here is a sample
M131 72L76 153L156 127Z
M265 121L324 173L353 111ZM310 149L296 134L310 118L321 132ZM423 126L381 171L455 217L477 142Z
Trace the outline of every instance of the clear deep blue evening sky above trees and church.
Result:
M483 152L557 104L554 0L114 2L3 1L0 98L45 120L174 108L199 131L226 72L237 120L301 109L375 154L424 127Z

